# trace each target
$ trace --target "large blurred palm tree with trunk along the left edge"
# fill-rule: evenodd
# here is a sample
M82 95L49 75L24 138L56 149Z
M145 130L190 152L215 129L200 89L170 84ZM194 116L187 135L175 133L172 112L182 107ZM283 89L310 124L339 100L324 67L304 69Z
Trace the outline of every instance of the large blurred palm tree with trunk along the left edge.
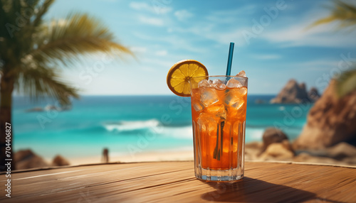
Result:
M53 0L0 0L2 170L6 163L6 123L11 124L14 90L35 98L47 95L63 105L70 104L71 97L79 97L78 89L60 78L60 67L73 65L82 60L83 55L98 51L132 54L125 46L115 43L107 27L87 14L72 13L62 20L44 22L43 16L51 4ZM10 153L13 158L12 150ZM14 169L14 162L11 168Z

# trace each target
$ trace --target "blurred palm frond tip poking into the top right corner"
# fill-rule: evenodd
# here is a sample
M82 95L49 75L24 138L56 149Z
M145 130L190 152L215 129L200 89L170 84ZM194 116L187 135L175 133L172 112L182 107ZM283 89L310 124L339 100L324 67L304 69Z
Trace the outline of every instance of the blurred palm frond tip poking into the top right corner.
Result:
M352 4L347 4L344 1L335 0L335 7L333 8L330 16L321 18L315 21L308 28L313 26L319 26L325 23L331 23L333 21L340 21L339 27L346 28L349 26L356 25L356 6Z

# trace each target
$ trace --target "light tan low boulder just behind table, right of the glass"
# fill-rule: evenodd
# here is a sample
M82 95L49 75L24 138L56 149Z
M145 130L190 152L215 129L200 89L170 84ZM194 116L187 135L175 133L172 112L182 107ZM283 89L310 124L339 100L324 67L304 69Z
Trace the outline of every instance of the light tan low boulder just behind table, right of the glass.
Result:
M292 160L295 153L288 140L271 143L260 155L260 160Z

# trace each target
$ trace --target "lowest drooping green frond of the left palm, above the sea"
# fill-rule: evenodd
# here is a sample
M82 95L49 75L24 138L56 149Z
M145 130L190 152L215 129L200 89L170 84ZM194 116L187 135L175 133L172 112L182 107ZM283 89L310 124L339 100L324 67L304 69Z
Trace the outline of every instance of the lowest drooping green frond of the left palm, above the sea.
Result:
M56 68L42 65L24 69L16 80L15 88L33 98L43 96L56 98L62 105L70 104L70 97L79 98L78 89L70 87L60 79Z

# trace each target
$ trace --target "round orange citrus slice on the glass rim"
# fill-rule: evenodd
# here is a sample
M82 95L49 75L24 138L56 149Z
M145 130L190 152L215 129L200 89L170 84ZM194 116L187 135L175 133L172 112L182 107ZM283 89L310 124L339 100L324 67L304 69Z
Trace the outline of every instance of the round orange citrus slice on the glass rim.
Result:
M189 81L194 77L194 82L198 83L204 76L208 75L208 70L196 60L181 60L174 64L167 75L167 85L174 94L180 97L190 97Z

